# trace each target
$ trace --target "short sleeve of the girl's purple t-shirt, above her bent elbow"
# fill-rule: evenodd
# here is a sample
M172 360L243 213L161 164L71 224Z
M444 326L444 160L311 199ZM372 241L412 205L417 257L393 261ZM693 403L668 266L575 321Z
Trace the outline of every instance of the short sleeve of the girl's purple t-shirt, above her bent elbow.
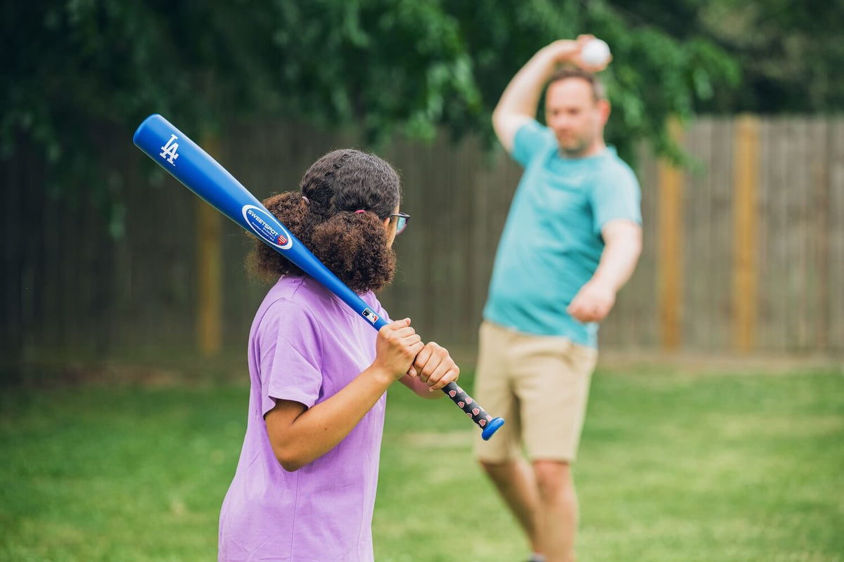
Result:
M262 415L276 400L311 408L322 388L322 335L316 318L294 302L274 302L261 323Z

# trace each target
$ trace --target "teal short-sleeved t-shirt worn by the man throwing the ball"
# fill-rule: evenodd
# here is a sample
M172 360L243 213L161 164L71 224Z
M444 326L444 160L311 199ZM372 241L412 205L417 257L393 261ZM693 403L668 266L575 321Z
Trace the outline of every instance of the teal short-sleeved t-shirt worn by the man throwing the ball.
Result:
M636 174L613 147L565 158L554 132L536 121L517 131L512 156L525 170L495 254L484 318L597 347L598 324L582 324L565 308L598 269L603 225L641 224Z

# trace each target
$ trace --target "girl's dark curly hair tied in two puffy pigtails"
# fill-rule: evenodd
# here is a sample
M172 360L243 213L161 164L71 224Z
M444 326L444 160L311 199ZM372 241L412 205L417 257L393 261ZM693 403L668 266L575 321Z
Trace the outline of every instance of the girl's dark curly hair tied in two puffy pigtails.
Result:
M396 254L387 244L383 221L401 199L396 170L373 154L335 150L311 164L299 188L263 204L352 291L387 286L396 271ZM264 281L305 275L257 238L246 264Z

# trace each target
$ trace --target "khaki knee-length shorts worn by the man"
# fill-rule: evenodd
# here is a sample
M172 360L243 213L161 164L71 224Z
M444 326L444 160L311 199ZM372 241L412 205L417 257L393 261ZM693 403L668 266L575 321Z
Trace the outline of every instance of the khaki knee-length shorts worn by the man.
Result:
M524 446L532 460L573 462L597 361L598 350L568 338L522 334L484 321L474 398L506 423L490 441L478 437L475 455L501 463Z

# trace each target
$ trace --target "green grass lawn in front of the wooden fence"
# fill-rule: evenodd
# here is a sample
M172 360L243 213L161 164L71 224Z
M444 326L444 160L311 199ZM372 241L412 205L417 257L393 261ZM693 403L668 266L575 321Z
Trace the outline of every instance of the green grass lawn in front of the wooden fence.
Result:
M246 400L0 389L0 560L216 559ZM465 415L401 387L387 404L376 559L524 559ZM581 562L844 561L844 376L599 371L576 482Z

